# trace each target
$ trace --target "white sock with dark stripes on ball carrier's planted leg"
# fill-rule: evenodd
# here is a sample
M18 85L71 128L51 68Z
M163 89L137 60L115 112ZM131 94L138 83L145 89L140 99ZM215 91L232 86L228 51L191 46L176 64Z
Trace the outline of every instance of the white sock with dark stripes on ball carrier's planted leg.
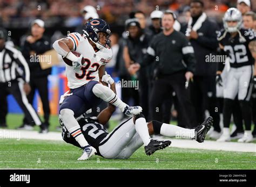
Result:
M63 123L66 127L66 130L69 131L81 147L85 147L88 142L85 140L84 135L82 134L81 128L74 117L74 112L70 109L62 109L60 111L60 116L62 117Z

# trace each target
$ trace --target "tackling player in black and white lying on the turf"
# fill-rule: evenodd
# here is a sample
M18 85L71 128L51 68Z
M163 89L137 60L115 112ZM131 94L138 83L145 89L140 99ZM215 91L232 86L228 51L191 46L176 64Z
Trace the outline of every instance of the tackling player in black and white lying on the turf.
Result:
M113 90L115 89L114 87L115 84L111 84ZM206 133L210 130L213 123L212 117L209 117L198 127L186 129L156 120L146 123L143 114L138 114L124 121L111 133L107 133L104 125L109 121L115 109L115 106L109 104L105 110L99 113L97 118L85 118L83 115L77 118L85 139L96 148L97 155L106 159L128 159L143 145L145 146L145 153L151 155L156 150L163 149L171 144L171 141L150 140L150 135L153 134L161 134L167 137L191 138L196 139L198 142L203 142ZM61 120L60 125L63 126ZM147 128L144 128L143 131L138 131L140 126L147 126ZM80 147L64 126L62 136L64 141Z

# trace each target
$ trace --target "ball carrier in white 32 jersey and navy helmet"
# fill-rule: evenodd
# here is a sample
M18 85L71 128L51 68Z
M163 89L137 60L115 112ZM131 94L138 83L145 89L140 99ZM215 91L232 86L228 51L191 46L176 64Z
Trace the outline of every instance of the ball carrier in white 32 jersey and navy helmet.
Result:
M71 91L60 105L59 118L83 148L83 155L78 160L89 159L96 149L85 140L76 117L97 106L102 100L118 107L127 116L142 112L142 107L128 106L109 87L100 83L102 80L109 84L113 82L109 75L104 75L104 65L112 58L112 51L108 46L110 35L110 27L106 21L91 19L85 24L83 33L70 33L67 38L53 43L56 52L65 58L66 76ZM79 56L72 52L79 53Z

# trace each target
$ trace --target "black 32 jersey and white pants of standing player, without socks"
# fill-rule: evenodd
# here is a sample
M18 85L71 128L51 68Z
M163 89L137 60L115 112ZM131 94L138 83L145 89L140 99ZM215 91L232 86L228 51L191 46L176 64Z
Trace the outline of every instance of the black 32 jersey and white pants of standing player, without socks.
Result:
M219 35L219 42L224 46L224 52L229 57L231 67L224 81L224 98L234 99L238 94L238 100L248 101L252 93L251 80L254 64L248 44L256 40L256 36L252 30L241 29L240 32L245 41L241 41L239 34L234 38L231 38L230 33L221 37L224 34L224 31L221 31ZM223 70L223 64L219 63L219 65L218 69Z

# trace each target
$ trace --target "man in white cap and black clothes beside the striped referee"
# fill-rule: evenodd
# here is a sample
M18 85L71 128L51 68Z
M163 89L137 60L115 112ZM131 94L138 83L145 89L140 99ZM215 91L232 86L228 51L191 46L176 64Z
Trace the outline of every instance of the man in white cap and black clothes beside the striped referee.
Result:
M44 30L43 20L36 19L32 22L31 35L26 37L26 41L22 45L22 54L25 57L26 62L28 62L31 72L31 92L28 95L29 103L32 104L35 90L38 89L43 104L44 124L49 126L50 106L48 98L48 75L51 74L51 68L42 70L36 58L37 55L43 54L51 49L49 40L43 36ZM25 118L23 123L21 128L25 125L29 125Z

